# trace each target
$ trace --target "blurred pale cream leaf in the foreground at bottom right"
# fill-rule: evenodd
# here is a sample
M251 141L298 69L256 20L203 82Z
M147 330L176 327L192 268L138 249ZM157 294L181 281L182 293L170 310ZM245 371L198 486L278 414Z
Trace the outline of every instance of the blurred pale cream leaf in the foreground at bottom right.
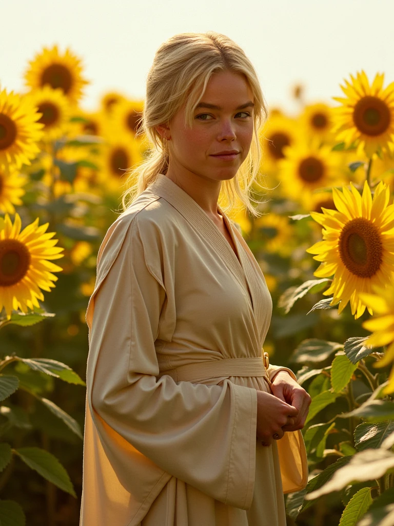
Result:
M353 482L378 479L387 471L394 471L394 453L385 449L359 451L350 457L347 465L338 469L333 478L322 487L305 495L305 499L317 499L321 495L339 491Z

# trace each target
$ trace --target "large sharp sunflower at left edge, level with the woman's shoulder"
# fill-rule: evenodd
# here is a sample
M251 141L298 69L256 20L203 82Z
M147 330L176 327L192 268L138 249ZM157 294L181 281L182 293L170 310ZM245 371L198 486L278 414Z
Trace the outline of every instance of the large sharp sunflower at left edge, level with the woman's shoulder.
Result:
M40 289L50 292L57 276L51 272L63 270L49 259L62 258L64 248L55 247L58 239L50 239L55 232L47 232L49 223L38 227L38 218L20 231L21 221L15 214L14 225L5 215L0 230L0 308L5 308L7 319L18 308L27 313L27 307L40 307L37 299L44 300Z

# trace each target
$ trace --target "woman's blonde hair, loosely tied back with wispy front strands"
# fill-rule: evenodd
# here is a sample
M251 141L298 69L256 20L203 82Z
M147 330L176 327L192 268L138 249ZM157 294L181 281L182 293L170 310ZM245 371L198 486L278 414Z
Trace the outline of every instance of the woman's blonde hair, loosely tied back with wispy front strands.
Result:
M213 31L174 35L157 50L147 77L146 98L137 132L137 135L145 134L152 147L141 163L127 170L127 189L122 194L123 211L158 174L167 173L167 141L155 126L171 122L185 104L185 124L192 127L195 106L200 102L212 73L228 70L245 75L250 85L254 94L254 126L248 155L236 176L222 181L219 201L225 197L229 204L222 209L225 213L231 212L235 208L236 196L253 216L260 216L252 205L252 201L258 201L252 197L250 188L253 184L261 186L256 181L262 159L258 134L268 115L267 106L255 69L244 51L231 38Z

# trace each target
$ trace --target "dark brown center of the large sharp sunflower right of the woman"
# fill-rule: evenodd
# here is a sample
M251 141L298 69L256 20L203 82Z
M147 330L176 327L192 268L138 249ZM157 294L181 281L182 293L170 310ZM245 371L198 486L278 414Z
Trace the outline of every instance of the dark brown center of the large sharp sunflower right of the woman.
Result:
M379 230L365 217L348 221L340 232L339 256L345 267L360 278L370 278L382 264Z

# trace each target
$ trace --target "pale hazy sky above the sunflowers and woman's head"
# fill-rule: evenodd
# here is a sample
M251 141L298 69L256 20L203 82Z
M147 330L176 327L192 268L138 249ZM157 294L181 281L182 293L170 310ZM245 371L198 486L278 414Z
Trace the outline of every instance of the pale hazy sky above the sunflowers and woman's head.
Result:
M98 107L106 90L144 96L157 48L184 32L217 31L251 59L268 106L297 112L295 83L306 102L336 106L339 84L364 69L370 81L394 81L393 0L0 0L0 86L23 90L37 52L58 44L82 59L81 106Z

